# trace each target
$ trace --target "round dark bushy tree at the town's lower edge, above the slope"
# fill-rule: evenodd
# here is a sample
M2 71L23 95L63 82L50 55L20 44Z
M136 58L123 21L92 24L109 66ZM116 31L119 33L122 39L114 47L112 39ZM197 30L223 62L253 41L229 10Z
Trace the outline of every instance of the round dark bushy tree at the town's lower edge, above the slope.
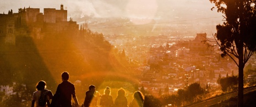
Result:
M191 94L192 97L196 98L197 95L203 94L203 88L200 87L200 84L195 82L188 86L188 92Z

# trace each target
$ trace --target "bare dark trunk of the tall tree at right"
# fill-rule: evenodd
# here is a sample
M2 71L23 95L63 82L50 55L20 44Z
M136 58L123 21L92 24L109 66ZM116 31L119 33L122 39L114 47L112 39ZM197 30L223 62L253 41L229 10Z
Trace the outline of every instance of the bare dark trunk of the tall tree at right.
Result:
M239 46L238 49L239 55L239 66L238 66L238 106L243 106L243 46Z

